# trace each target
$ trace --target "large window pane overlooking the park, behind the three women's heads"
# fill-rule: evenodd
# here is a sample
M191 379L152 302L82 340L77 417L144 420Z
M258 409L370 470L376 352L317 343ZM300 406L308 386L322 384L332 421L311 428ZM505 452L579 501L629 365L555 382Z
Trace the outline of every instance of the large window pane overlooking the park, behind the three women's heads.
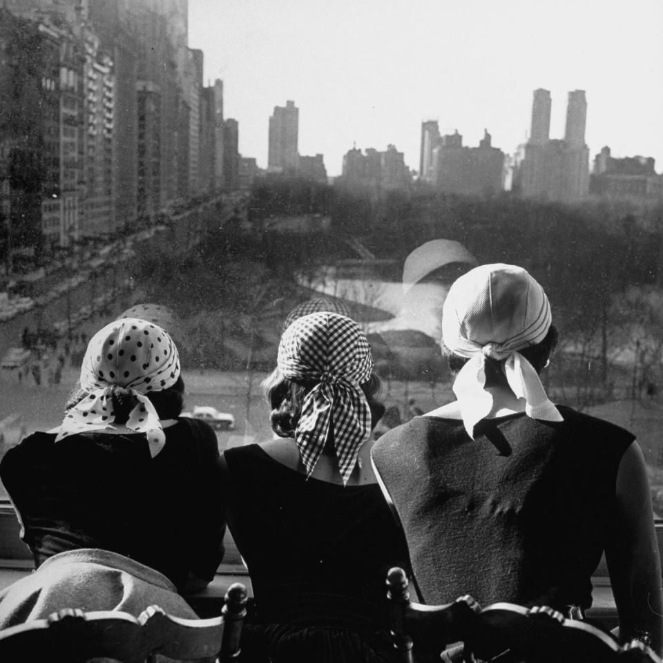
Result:
M52 99L13 133L0 127L0 455L59 425L86 343L137 305L175 338L185 414L213 425L220 450L272 435L260 384L292 311L347 314L383 383L377 436L453 398L439 347L445 294L472 265L508 262L550 298L560 332L542 373L551 398L637 435L663 517L658 3L636 1L632 17L569 4L574 23L558 22L553 3L526 18L486 1L482 19L423 2L387 3L391 17L377 1L366 4L374 15L349 2L316 14L302 0L279 10L285 34L265 32L270 3L224 15L190 0L188 36L186 3L159 15L126 3L113 17L88 4L94 34L69 34L66 16L28 16L21 3L0 10L26 45L44 44L18 57L1 41L0 86L22 72L37 85L20 88L19 106L55 94L61 108L57 131ZM37 19L49 30L30 32ZM241 21L240 43L224 25ZM622 43L631 32L633 48ZM586 52L590 34L603 35L602 67ZM555 44L568 49L559 68L543 52ZM216 46L228 80L214 81ZM104 95L77 86L94 62L109 68ZM58 66L59 89L42 86ZM88 131L101 117L108 132ZM21 135L37 147L18 146ZM44 193L48 163L61 169Z

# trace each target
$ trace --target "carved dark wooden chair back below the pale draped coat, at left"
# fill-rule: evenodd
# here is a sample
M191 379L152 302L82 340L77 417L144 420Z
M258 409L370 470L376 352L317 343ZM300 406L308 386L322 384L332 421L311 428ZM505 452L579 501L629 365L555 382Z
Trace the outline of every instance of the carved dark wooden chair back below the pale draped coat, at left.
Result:
M238 660L246 616L247 590L229 588L220 617L182 619L159 606L139 617L119 611L62 610L0 631L3 663L85 663L108 658L120 663L153 663L157 655L174 660Z

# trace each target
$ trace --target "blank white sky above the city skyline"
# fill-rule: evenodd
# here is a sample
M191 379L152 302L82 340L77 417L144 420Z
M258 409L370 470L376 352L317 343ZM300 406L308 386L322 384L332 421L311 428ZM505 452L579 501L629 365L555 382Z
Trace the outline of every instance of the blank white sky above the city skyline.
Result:
M586 142L663 170L663 0L189 0L189 46L224 81L240 152L267 166L274 106L299 108L299 152L340 174L353 142L393 143L419 169L424 119L513 153L532 92L550 90L564 137L586 90Z

